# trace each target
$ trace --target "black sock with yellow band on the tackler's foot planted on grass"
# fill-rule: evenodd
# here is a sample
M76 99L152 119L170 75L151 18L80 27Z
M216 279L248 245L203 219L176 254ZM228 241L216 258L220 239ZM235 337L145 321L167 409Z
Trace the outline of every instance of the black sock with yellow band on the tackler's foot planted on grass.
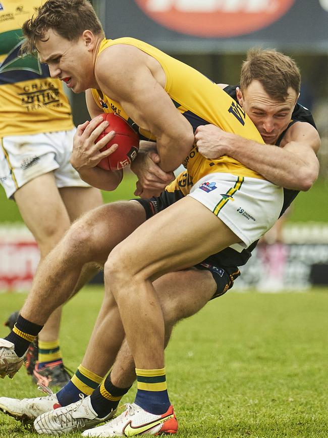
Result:
M112 383L111 373L91 395L91 405L99 418L103 418L114 411L122 397L129 391L128 388L119 388Z

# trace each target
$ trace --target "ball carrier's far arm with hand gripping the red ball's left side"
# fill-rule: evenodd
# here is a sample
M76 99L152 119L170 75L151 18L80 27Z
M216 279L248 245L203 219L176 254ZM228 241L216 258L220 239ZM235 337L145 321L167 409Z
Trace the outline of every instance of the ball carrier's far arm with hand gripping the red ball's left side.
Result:
M123 170L107 171L96 167L101 158L110 155L109 153L107 154L107 152L110 152L110 149L112 149L114 145L105 151L105 153L99 153L99 149L101 149L113 135L107 134L95 147L94 141L104 129L104 126L101 128L99 121L96 122L94 118L102 114L102 111L94 102L91 90L86 90L85 99L88 112L93 120L77 127L76 134L74 135L71 163L79 172L83 181L102 190L115 190L122 181Z

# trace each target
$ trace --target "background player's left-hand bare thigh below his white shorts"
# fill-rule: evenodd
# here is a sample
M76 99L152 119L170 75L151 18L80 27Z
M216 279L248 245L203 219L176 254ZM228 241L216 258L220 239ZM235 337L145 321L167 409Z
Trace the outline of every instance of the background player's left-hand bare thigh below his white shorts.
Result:
M70 226L70 218L52 172L24 184L14 193L14 199L41 253L49 251Z

